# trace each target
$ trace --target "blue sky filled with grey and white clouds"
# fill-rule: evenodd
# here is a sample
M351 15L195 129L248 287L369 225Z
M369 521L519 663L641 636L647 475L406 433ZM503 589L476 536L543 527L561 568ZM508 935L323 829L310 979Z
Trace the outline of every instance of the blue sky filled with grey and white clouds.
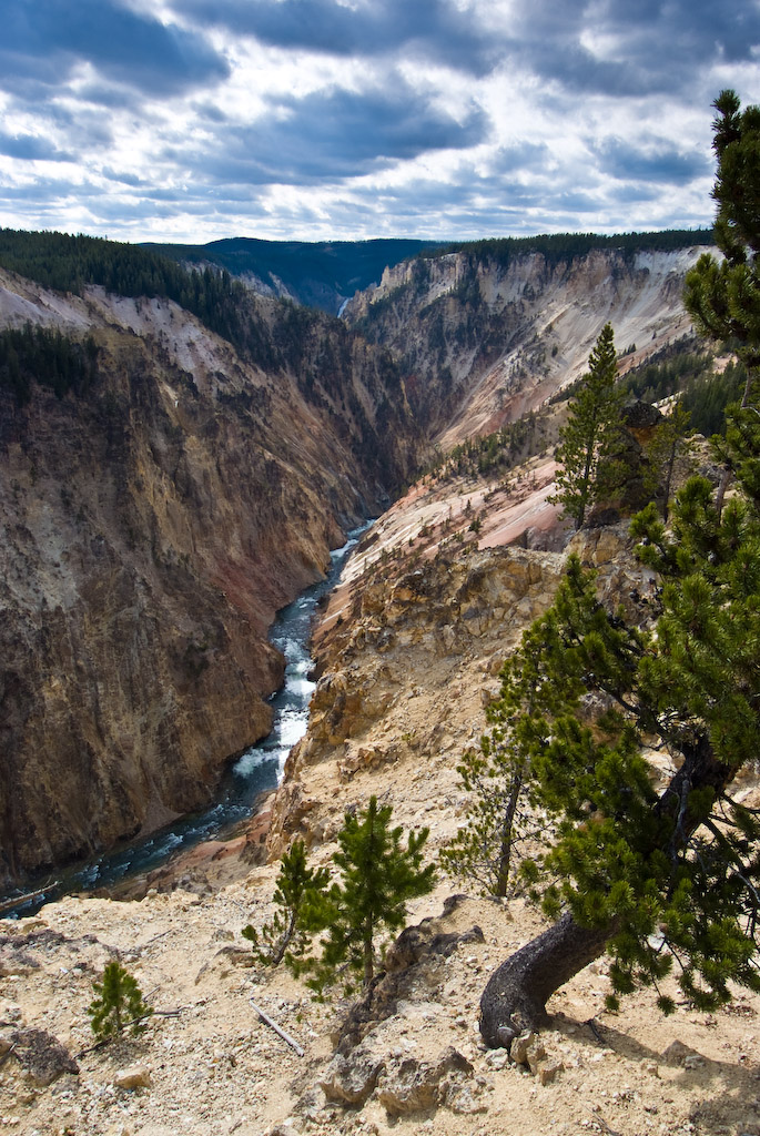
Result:
M760 0L0 0L0 226L704 226L727 86L760 102Z

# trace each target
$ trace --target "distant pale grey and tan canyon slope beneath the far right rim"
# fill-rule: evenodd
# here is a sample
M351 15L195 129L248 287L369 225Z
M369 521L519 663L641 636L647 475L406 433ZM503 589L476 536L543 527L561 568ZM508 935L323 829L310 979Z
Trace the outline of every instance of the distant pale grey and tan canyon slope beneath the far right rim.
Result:
M686 333L680 300L702 245L508 254L499 242L418 257L351 300L350 326L391 349L442 450L540 407L586 368L609 320L628 365Z

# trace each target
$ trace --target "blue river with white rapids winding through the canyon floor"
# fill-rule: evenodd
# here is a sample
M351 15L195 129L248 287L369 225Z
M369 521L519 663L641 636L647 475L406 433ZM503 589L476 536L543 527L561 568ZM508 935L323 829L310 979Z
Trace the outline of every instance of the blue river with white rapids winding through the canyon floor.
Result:
M208 809L189 813L142 841L74 864L57 874L57 884L44 894L3 912L5 917L32 914L43 903L70 892L107 888L160 867L170 857L187 851L202 841L214 840L251 816L261 793L275 788L282 778L291 749L306 734L309 701L315 684L308 675L312 667L309 637L317 604L340 579L349 552L369 527L368 523L349 533L346 543L331 552L331 566L325 579L302 592L293 603L282 608L269 633L269 640L285 655L285 682L270 698L274 710L272 733L247 750L225 774L216 801ZM37 883L42 887L44 882Z

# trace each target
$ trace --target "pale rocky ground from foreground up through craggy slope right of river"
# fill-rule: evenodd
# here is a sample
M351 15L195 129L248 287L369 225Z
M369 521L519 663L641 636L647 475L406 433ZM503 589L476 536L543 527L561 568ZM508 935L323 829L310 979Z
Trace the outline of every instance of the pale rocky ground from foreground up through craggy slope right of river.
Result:
M634 602L649 585L623 534L598 531L581 550L604 591ZM272 857L298 833L314 862L328 863L344 809L371 793L406 828L429 826L433 855L462 824L457 761L484 729L521 627L551 602L563 557L478 550L473 534L456 558L437 551L376 568L371 583L358 573L334 598L343 613L327 612L309 733L269 802ZM520 897L493 902L442 877L410 905L417 930L391 950L371 997L352 1013L340 999L320 1005L284 969L251 966L241 930L272 913L277 874L275 860L250 862L262 837L259 827L195 853L172 892L72 896L2 926L0 1130L760 1134L760 997L663 1019L640 994L616 1017L603 1009L600 961L554 995L540 1038L511 1058L487 1052L483 986L542 917ZM86 1006L111 957L157 1012L140 1037L93 1050Z

